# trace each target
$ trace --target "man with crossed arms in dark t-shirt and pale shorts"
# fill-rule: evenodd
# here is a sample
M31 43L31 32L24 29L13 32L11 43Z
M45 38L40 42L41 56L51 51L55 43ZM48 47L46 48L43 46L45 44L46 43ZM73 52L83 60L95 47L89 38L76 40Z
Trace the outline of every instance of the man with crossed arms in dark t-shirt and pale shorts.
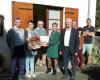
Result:
M84 44L83 44L83 54L87 53L87 62L86 65L91 63L91 53L92 53L92 38L94 36L95 28L91 25L91 19L88 18L86 20L87 25L83 27L83 36L84 36Z

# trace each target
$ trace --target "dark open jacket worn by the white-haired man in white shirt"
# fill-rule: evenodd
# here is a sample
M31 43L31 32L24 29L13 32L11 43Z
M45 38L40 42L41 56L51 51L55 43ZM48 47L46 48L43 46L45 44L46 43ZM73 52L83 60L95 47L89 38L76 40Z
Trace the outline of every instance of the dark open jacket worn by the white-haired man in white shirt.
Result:
M65 36L66 28L62 29L61 35L60 35L60 49L63 52L64 48L64 36ZM79 49L79 37L78 37L78 31L74 28L71 29L71 35L69 40L69 48L71 51L71 54L78 53Z

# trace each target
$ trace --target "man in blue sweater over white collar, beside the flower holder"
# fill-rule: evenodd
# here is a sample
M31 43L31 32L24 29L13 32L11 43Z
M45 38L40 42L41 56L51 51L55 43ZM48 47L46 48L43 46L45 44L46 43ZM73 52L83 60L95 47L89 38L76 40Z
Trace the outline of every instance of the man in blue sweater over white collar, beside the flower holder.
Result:
M12 78L15 80L17 63L19 65L19 77L24 77L25 70L25 32L21 28L21 19L15 18L14 27L12 27L7 34L7 43L11 50L12 57Z

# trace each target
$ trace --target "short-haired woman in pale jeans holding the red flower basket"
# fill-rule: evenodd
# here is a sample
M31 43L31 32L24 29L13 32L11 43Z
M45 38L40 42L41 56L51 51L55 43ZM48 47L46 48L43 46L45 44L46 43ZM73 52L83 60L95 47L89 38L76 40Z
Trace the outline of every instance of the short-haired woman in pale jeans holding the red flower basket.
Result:
M33 30L34 28L34 23L33 21L29 20L28 22L28 28L27 28L27 41L29 42L29 39L32 36L35 36L36 33ZM36 77L34 74L34 53L33 51L33 46L28 44L28 49L27 49L27 54L26 54L26 77Z

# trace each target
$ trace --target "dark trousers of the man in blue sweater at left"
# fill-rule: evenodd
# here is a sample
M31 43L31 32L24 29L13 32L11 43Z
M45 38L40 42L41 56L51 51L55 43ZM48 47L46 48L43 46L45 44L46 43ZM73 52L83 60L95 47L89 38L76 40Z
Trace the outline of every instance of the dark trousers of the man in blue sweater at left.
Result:
M25 73L25 52L24 45L15 46L14 54L12 55L12 75L16 73L16 68L18 68L19 75L24 75Z

